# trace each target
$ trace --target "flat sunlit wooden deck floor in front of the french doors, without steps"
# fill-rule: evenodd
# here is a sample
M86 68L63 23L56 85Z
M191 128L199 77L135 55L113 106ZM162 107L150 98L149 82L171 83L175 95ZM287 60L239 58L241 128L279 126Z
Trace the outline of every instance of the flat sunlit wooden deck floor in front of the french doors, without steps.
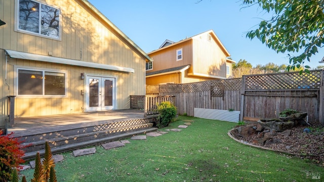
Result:
M144 111L138 109L21 117L15 118L14 127L8 128L8 133L14 132L14 136L19 137L35 133L39 134L61 129L66 130L74 127L87 127L141 118L144 118Z

